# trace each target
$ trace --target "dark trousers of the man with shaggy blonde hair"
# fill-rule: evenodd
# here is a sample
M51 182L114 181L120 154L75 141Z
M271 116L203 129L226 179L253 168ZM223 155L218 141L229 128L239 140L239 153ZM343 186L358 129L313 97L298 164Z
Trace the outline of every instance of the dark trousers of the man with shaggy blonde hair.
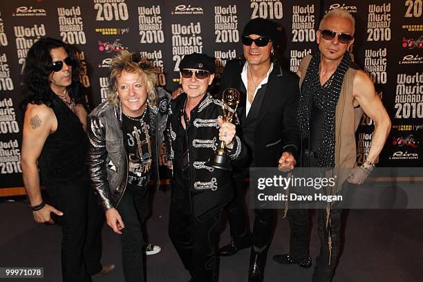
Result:
M142 282L144 278L144 236L142 225L149 214L148 187L126 187L118 205L125 228L122 229L122 265L126 282Z

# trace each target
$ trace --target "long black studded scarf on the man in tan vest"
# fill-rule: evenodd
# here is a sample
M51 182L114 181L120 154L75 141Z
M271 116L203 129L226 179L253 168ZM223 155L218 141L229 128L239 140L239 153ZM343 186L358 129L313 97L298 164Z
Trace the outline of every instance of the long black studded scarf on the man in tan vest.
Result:
M351 57L350 53L345 53L335 73L332 74L323 86L320 84L319 75L320 58L320 52L317 51L308 65L306 77L304 77L303 84L301 85L301 97L297 116L301 130L301 139L309 138L313 99L314 102L322 106L324 109L325 123L317 159L319 160L320 167L335 167L335 111L344 76L351 64Z

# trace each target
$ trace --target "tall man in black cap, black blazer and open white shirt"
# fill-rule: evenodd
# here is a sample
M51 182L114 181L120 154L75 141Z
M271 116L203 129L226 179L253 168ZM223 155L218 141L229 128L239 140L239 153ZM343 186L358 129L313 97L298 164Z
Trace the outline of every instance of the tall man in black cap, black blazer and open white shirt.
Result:
M238 116L242 139L251 157L250 167L279 167L288 171L296 164L299 128L295 114L299 99L298 77L285 71L274 56L279 46L276 24L256 18L247 23L242 41L242 59L229 61L220 80L220 92L228 87L241 92ZM239 167L236 187L243 185L249 167ZM232 242L220 249L221 256L236 254L251 244L240 197L226 207ZM254 209L249 281L263 281L276 213Z

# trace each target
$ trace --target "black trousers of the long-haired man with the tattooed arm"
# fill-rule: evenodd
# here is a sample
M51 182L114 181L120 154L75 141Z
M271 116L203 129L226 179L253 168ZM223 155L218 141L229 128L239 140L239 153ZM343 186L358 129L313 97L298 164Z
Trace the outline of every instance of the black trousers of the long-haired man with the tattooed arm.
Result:
M102 265L104 212L89 180L46 185L53 206L64 213L55 217L62 225L62 275L64 282L91 281Z

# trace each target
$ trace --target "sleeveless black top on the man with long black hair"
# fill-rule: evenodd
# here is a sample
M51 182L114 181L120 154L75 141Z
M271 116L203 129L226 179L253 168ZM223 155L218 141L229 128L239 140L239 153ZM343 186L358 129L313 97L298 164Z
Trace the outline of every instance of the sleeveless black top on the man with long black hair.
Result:
M51 185L88 179L88 137L82 123L57 95L53 95L51 108L57 130L46 139L38 159L41 181Z

